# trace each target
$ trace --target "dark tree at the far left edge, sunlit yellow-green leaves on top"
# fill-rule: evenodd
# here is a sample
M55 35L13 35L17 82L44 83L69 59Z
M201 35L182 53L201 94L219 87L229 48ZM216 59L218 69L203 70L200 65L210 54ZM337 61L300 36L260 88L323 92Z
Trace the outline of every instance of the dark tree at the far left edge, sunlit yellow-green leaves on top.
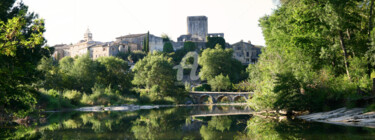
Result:
M42 76L37 64L51 52L42 48L44 21L14 3L0 2L0 112L25 115L36 103L32 84Z

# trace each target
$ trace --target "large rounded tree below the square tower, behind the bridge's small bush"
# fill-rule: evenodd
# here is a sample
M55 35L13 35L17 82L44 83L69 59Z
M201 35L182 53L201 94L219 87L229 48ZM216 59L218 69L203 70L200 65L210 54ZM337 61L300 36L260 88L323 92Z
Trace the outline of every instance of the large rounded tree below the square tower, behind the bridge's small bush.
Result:
M219 74L228 75L232 82L238 82L242 64L234 59L232 49L222 49L216 45L215 49L205 49L199 58L199 65L202 66L199 75L202 80L210 81Z

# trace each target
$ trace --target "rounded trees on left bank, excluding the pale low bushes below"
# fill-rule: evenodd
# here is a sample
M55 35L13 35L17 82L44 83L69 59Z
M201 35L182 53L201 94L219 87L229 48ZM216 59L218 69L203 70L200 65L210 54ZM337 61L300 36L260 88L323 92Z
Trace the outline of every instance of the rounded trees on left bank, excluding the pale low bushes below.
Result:
M38 68L46 75L39 86L46 89L92 93L95 84L110 86L120 92L128 92L131 88L129 66L116 57L101 57L94 61L83 55L76 59L64 57L58 63L45 58Z

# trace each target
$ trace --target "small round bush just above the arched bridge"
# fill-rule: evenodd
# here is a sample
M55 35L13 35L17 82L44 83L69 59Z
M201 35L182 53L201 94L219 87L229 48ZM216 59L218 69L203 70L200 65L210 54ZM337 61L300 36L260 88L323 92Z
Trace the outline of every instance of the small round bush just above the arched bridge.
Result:
M213 91L228 90L232 85L229 77L224 76L223 74L220 74L215 78L208 80L208 84L211 86Z

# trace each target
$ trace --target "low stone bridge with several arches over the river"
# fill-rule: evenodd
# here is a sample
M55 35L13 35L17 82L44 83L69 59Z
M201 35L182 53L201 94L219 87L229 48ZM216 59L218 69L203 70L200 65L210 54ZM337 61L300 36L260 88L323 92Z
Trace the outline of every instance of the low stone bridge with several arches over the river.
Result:
M192 91L189 93L193 98L194 103L202 104L205 98L211 99L212 103L222 101L224 97L228 98L230 102L235 102L242 99L248 100L253 96L253 92L198 92Z

